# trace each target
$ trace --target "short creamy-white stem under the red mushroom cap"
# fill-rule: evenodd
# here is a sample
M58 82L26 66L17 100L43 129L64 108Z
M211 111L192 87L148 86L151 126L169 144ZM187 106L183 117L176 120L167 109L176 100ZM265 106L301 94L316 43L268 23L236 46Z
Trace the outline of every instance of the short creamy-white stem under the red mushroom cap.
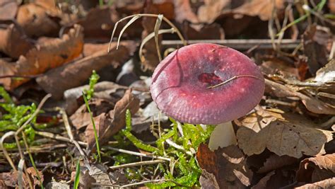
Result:
M216 125L209 138L209 149L214 151L218 149L218 147L228 147L232 144L237 144L232 122L223 122Z

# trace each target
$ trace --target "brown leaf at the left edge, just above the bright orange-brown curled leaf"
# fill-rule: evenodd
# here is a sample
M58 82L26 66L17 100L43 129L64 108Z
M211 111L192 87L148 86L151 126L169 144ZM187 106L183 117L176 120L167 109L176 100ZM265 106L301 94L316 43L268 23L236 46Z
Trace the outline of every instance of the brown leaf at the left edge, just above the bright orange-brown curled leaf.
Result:
M0 51L16 59L34 47L33 42L13 23L6 29L0 28L0 36Z

